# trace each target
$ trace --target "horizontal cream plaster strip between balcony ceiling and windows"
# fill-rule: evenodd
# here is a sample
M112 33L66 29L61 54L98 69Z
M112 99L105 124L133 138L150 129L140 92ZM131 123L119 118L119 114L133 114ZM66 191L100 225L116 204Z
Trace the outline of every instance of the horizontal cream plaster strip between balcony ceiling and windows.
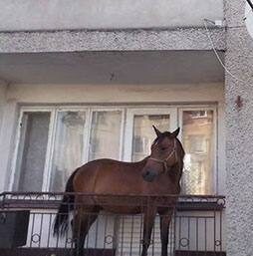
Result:
M7 99L19 103L198 103L223 101L222 84L195 85L11 85Z

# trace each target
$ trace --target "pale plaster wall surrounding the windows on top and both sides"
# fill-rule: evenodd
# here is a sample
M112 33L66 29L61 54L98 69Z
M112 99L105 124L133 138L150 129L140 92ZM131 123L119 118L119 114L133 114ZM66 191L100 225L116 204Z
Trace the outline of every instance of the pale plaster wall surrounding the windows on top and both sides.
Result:
M222 84L195 85L10 85L7 90L6 107L9 114L5 117L5 134L0 137L0 161L3 162L1 172L5 177L5 186L0 184L0 190L7 189L10 176L10 158L15 139L15 127L18 105L45 104L218 104L218 186L217 193L224 193L224 99ZM13 131L14 130L14 131Z

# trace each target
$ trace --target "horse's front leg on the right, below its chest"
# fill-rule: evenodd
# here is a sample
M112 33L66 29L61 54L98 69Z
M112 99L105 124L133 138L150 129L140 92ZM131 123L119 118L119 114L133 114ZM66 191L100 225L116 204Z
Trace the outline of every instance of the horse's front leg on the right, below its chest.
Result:
M169 209L165 212L159 212L160 215L160 240L161 240L161 256L167 256L168 232L169 224L172 218L173 210Z

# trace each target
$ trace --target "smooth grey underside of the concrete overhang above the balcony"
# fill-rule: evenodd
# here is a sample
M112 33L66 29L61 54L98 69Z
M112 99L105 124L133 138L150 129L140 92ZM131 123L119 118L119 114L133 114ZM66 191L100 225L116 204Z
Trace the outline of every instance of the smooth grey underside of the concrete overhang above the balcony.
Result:
M0 79L14 84L199 84L223 82L224 71L212 51L27 53L0 54Z

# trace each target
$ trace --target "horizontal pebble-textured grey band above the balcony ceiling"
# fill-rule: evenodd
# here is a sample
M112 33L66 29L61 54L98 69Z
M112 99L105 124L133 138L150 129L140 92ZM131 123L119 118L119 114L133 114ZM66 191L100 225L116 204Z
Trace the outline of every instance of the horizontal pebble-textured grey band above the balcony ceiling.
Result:
M224 50L225 29L211 29L211 36ZM0 53L210 49L204 28L0 33Z

